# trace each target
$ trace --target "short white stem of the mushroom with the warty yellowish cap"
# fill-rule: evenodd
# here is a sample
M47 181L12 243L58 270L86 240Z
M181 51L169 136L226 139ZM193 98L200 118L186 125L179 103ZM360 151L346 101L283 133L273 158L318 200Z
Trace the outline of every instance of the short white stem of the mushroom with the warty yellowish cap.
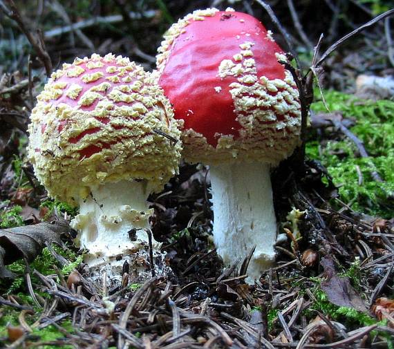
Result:
M91 194L79 200L79 214L71 226L79 232L80 246L88 250L85 261L89 267L124 256L133 256L131 260L149 256L146 229L153 214L147 205L149 194L146 180L121 180L91 188ZM153 251L158 252L160 243L153 237L152 243Z

